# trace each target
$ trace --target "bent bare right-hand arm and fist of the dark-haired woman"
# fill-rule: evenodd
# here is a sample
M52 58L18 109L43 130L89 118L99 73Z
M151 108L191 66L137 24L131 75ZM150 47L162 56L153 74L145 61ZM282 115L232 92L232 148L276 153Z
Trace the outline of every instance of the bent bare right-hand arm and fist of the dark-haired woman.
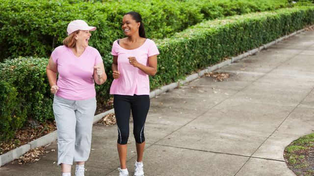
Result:
M129 61L131 65L148 75L155 76L157 73L157 55L148 57L148 66L138 63L135 57L129 57Z

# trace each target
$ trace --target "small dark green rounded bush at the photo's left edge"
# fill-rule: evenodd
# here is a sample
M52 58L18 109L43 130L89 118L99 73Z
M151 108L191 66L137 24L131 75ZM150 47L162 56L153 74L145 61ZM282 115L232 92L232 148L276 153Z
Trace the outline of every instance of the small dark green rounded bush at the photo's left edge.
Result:
M23 126L26 113L17 98L16 88L0 80L0 141L14 137L17 129Z

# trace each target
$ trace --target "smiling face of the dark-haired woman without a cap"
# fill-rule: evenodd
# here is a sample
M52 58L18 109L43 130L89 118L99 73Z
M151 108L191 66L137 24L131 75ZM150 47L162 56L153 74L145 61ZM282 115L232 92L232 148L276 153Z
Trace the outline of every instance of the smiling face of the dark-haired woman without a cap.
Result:
M128 14L123 17L121 26L126 36L132 36L134 34L138 34L140 22L136 22L133 20L132 16Z

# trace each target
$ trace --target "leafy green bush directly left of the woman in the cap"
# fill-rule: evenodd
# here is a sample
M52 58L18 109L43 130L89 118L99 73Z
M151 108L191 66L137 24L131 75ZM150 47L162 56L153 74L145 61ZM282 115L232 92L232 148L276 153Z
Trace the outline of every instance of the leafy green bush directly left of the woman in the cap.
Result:
M46 75L47 58L7 59L0 64L0 80L16 88L19 108L29 119L53 119L52 94Z

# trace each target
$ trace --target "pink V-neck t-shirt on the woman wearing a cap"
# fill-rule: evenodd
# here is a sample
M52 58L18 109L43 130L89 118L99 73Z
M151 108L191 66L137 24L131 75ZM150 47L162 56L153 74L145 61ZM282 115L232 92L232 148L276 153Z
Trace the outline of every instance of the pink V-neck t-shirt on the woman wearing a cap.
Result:
M87 46L77 57L71 48L62 45L52 51L51 57L59 72L59 90L55 95L68 100L87 100L96 96L94 66L103 62L97 49Z

